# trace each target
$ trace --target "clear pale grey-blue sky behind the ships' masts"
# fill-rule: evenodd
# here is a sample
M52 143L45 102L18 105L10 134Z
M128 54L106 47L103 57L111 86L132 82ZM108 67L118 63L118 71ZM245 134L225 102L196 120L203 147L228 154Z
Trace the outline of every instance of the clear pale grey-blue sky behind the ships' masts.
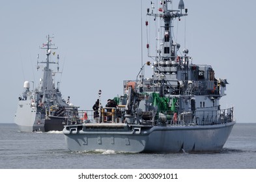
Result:
M256 1L184 0L188 16L178 25L178 40L194 64L210 64L215 76L226 78L221 107L235 105L237 122L256 122ZM174 2L176 8L178 0ZM155 5L157 8L157 4ZM143 0L143 62L147 58L145 20L150 1ZM1 0L1 119L13 123L23 82L38 86L38 49L47 34L60 55L60 90L81 109L91 109L102 90L102 104L122 94L122 81L136 79L141 67L141 1ZM176 25L176 24L175 24ZM152 72L146 69L146 76ZM57 83L58 80L55 82ZM31 86L33 86L31 84Z

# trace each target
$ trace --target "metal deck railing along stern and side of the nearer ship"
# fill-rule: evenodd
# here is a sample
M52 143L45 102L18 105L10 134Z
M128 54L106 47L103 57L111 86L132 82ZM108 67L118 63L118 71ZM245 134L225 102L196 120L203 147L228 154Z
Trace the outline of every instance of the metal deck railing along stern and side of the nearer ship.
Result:
M112 109L107 112L106 109ZM163 114L166 117L163 123ZM149 114L150 118L144 123L150 125L167 124L167 125L216 125L220 123L233 122L234 108L221 110L198 110L198 111L182 111L177 115L170 112L160 114ZM154 121L153 118L155 118ZM121 123L124 122L124 107L118 108L102 108L102 112L95 116L94 110L78 110L78 116L68 118L68 124L76 123ZM162 121L161 121L162 120ZM143 123L141 123L143 124Z

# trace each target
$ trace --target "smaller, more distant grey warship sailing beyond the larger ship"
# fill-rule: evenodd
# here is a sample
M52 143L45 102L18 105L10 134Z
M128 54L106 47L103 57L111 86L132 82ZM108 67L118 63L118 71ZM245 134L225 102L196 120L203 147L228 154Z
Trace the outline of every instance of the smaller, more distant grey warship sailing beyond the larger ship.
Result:
M72 117L78 115L78 107L70 103L70 97L68 96L66 100L62 98L59 82L55 87L53 77L61 73L59 72L59 55L52 52L57 49L52 47L54 46L53 36L48 35L46 38L46 44L40 47L40 49L46 49L46 60L40 61L37 55L37 70L40 68L43 70L38 88L34 89L34 81L25 81L24 92L18 98L14 122L21 132L63 131L67 118L70 118L68 115L71 114ZM57 72L51 70L50 64L53 65L52 67L57 67ZM30 87L30 83L33 83L33 88Z

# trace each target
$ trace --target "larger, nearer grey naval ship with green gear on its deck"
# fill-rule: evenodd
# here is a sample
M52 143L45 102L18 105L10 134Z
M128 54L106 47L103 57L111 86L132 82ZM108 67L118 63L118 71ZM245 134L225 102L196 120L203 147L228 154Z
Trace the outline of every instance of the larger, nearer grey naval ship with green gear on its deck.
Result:
M64 127L70 151L221 151L236 123L234 108L221 109L220 105L227 80L216 78L210 65L193 64L188 49L180 51L173 25L175 20L188 15L188 9L180 0L178 10L170 10L171 3L160 1L156 13L154 3L151 2L151 9L147 8L147 17L161 22L156 23L158 34L162 35L156 38L156 53L149 54L153 61L141 66L136 79L124 81L124 93L109 100L114 104L99 104L90 117L85 111L80 123L68 122ZM148 27L149 21L145 24ZM145 66L152 67L152 77L145 78ZM101 94L99 90L98 103Z

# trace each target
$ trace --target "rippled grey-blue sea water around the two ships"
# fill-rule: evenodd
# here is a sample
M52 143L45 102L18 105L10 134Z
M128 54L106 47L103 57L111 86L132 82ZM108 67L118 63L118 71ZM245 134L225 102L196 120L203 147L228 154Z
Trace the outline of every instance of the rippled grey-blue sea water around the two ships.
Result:
M0 123L1 169L255 169L256 123L236 123L220 153L68 151L62 132L20 133Z

